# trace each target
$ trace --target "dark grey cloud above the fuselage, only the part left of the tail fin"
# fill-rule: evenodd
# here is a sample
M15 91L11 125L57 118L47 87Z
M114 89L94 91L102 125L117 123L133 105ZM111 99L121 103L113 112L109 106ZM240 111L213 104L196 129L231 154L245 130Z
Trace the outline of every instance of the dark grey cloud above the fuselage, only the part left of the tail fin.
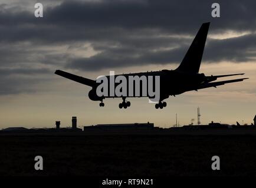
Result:
M172 50L153 51L142 48L107 48L106 51L91 56L90 58L71 59L67 68L82 70L99 70L104 68L139 66L148 64L177 63L184 54L183 46Z

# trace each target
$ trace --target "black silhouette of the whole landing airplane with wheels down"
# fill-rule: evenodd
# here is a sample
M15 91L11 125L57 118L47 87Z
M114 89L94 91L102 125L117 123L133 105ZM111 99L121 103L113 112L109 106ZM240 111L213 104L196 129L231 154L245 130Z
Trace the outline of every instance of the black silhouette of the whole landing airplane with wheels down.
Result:
M166 107L166 102L163 100L169 98L169 96L176 96L184 92L191 90L211 88L225 83L232 82L241 82L244 79L232 79L224 80L219 82L212 82L218 78L225 76L235 76L235 75L244 75L244 73L230 74L230 75L217 75L217 76L205 76L204 73L199 73L199 68L201 65L202 55L204 53L205 41L207 38L210 22L202 24L198 33L193 39L191 46L186 52L185 57L180 63L179 67L175 70L160 70L160 71L151 71L151 72L140 72L140 73L129 73L123 74L123 76L160 76L160 99L157 101L155 108L162 109ZM83 83L84 85L90 86L92 89L88 93L88 97L94 101L100 101L100 106L104 106L103 99L106 98L122 98L123 102L119 104L119 108L127 108L130 106L130 102L126 100L127 96L101 96L99 97L96 94L96 88L100 83L97 83L96 80L83 78L81 76L73 75L62 70L56 70L55 74L63 76L64 78L74 80L78 83ZM119 76L119 75L115 75ZM109 77L108 77L109 78ZM155 87L155 86L153 86ZM141 88L140 88L141 89ZM134 90L134 89L133 89ZM142 92L140 92L142 93ZM134 95L133 95L134 96ZM130 97L130 96L129 96ZM142 96L134 96L142 97ZM150 98L150 96L147 96Z

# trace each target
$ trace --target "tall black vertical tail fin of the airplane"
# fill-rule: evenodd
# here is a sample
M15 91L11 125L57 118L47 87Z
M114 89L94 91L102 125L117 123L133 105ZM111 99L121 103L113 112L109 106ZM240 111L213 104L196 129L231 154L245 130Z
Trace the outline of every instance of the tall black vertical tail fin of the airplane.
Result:
M193 39L185 57L176 69L180 72L198 73L205 48L205 41L208 34L210 22L202 24L198 33Z

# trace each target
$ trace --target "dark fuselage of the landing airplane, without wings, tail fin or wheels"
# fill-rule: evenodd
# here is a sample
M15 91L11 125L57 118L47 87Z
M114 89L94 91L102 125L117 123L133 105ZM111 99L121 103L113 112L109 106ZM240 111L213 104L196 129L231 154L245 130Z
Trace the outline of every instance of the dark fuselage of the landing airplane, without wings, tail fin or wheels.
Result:
M120 75L114 75L114 80L117 76ZM140 73L129 73L129 74L122 74L121 76L124 76L127 80L127 88L126 90L129 90L129 76L139 76L139 78L142 78L142 76L145 76L147 78L147 83L149 82L149 76L152 76L155 78L155 76L160 76L160 100L164 100L169 98L170 95L175 96L179 95L180 93L184 93L189 90L195 90L197 86L205 82L205 75L203 73L183 73L179 72L177 70L160 70L160 71L152 71L152 72L140 72ZM140 95L135 95L135 85L133 84L133 95L123 95L123 96L117 96L117 95L110 95L110 76L106 76L109 81L109 95L104 96L102 98L98 97L96 94L96 88L99 85L96 85L93 87L93 89L89 93L89 98L91 100L101 100L104 98L123 98L123 97L149 97L150 95L143 95L142 92L142 81L140 82ZM118 86L120 83L114 83L114 87ZM155 82L153 82L153 89L155 89Z

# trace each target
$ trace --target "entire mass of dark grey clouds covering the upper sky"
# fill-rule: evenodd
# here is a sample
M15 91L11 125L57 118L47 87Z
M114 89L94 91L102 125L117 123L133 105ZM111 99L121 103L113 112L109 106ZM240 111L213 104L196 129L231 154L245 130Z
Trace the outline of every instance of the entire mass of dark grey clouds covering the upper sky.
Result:
M256 2L218 1L221 18L211 17L212 3L200 0L64 1L47 6L44 18L35 18L33 11L19 10L19 5L8 8L8 2L0 4L0 73L7 77L37 71L51 75L49 67L90 71L179 63L200 25L208 21L212 23L210 33L232 30L252 34L208 39L204 62L241 62L255 58ZM34 7L34 2L27 4ZM81 43L90 43L98 53L89 58L81 53L72 54L71 48L81 50L77 45ZM67 49L64 51L60 46ZM21 69L24 65L26 69ZM2 93L22 90L22 85L29 83L29 78L22 77L15 82L18 76L10 80L6 80L7 77L1 85L13 80L19 86L9 84Z

